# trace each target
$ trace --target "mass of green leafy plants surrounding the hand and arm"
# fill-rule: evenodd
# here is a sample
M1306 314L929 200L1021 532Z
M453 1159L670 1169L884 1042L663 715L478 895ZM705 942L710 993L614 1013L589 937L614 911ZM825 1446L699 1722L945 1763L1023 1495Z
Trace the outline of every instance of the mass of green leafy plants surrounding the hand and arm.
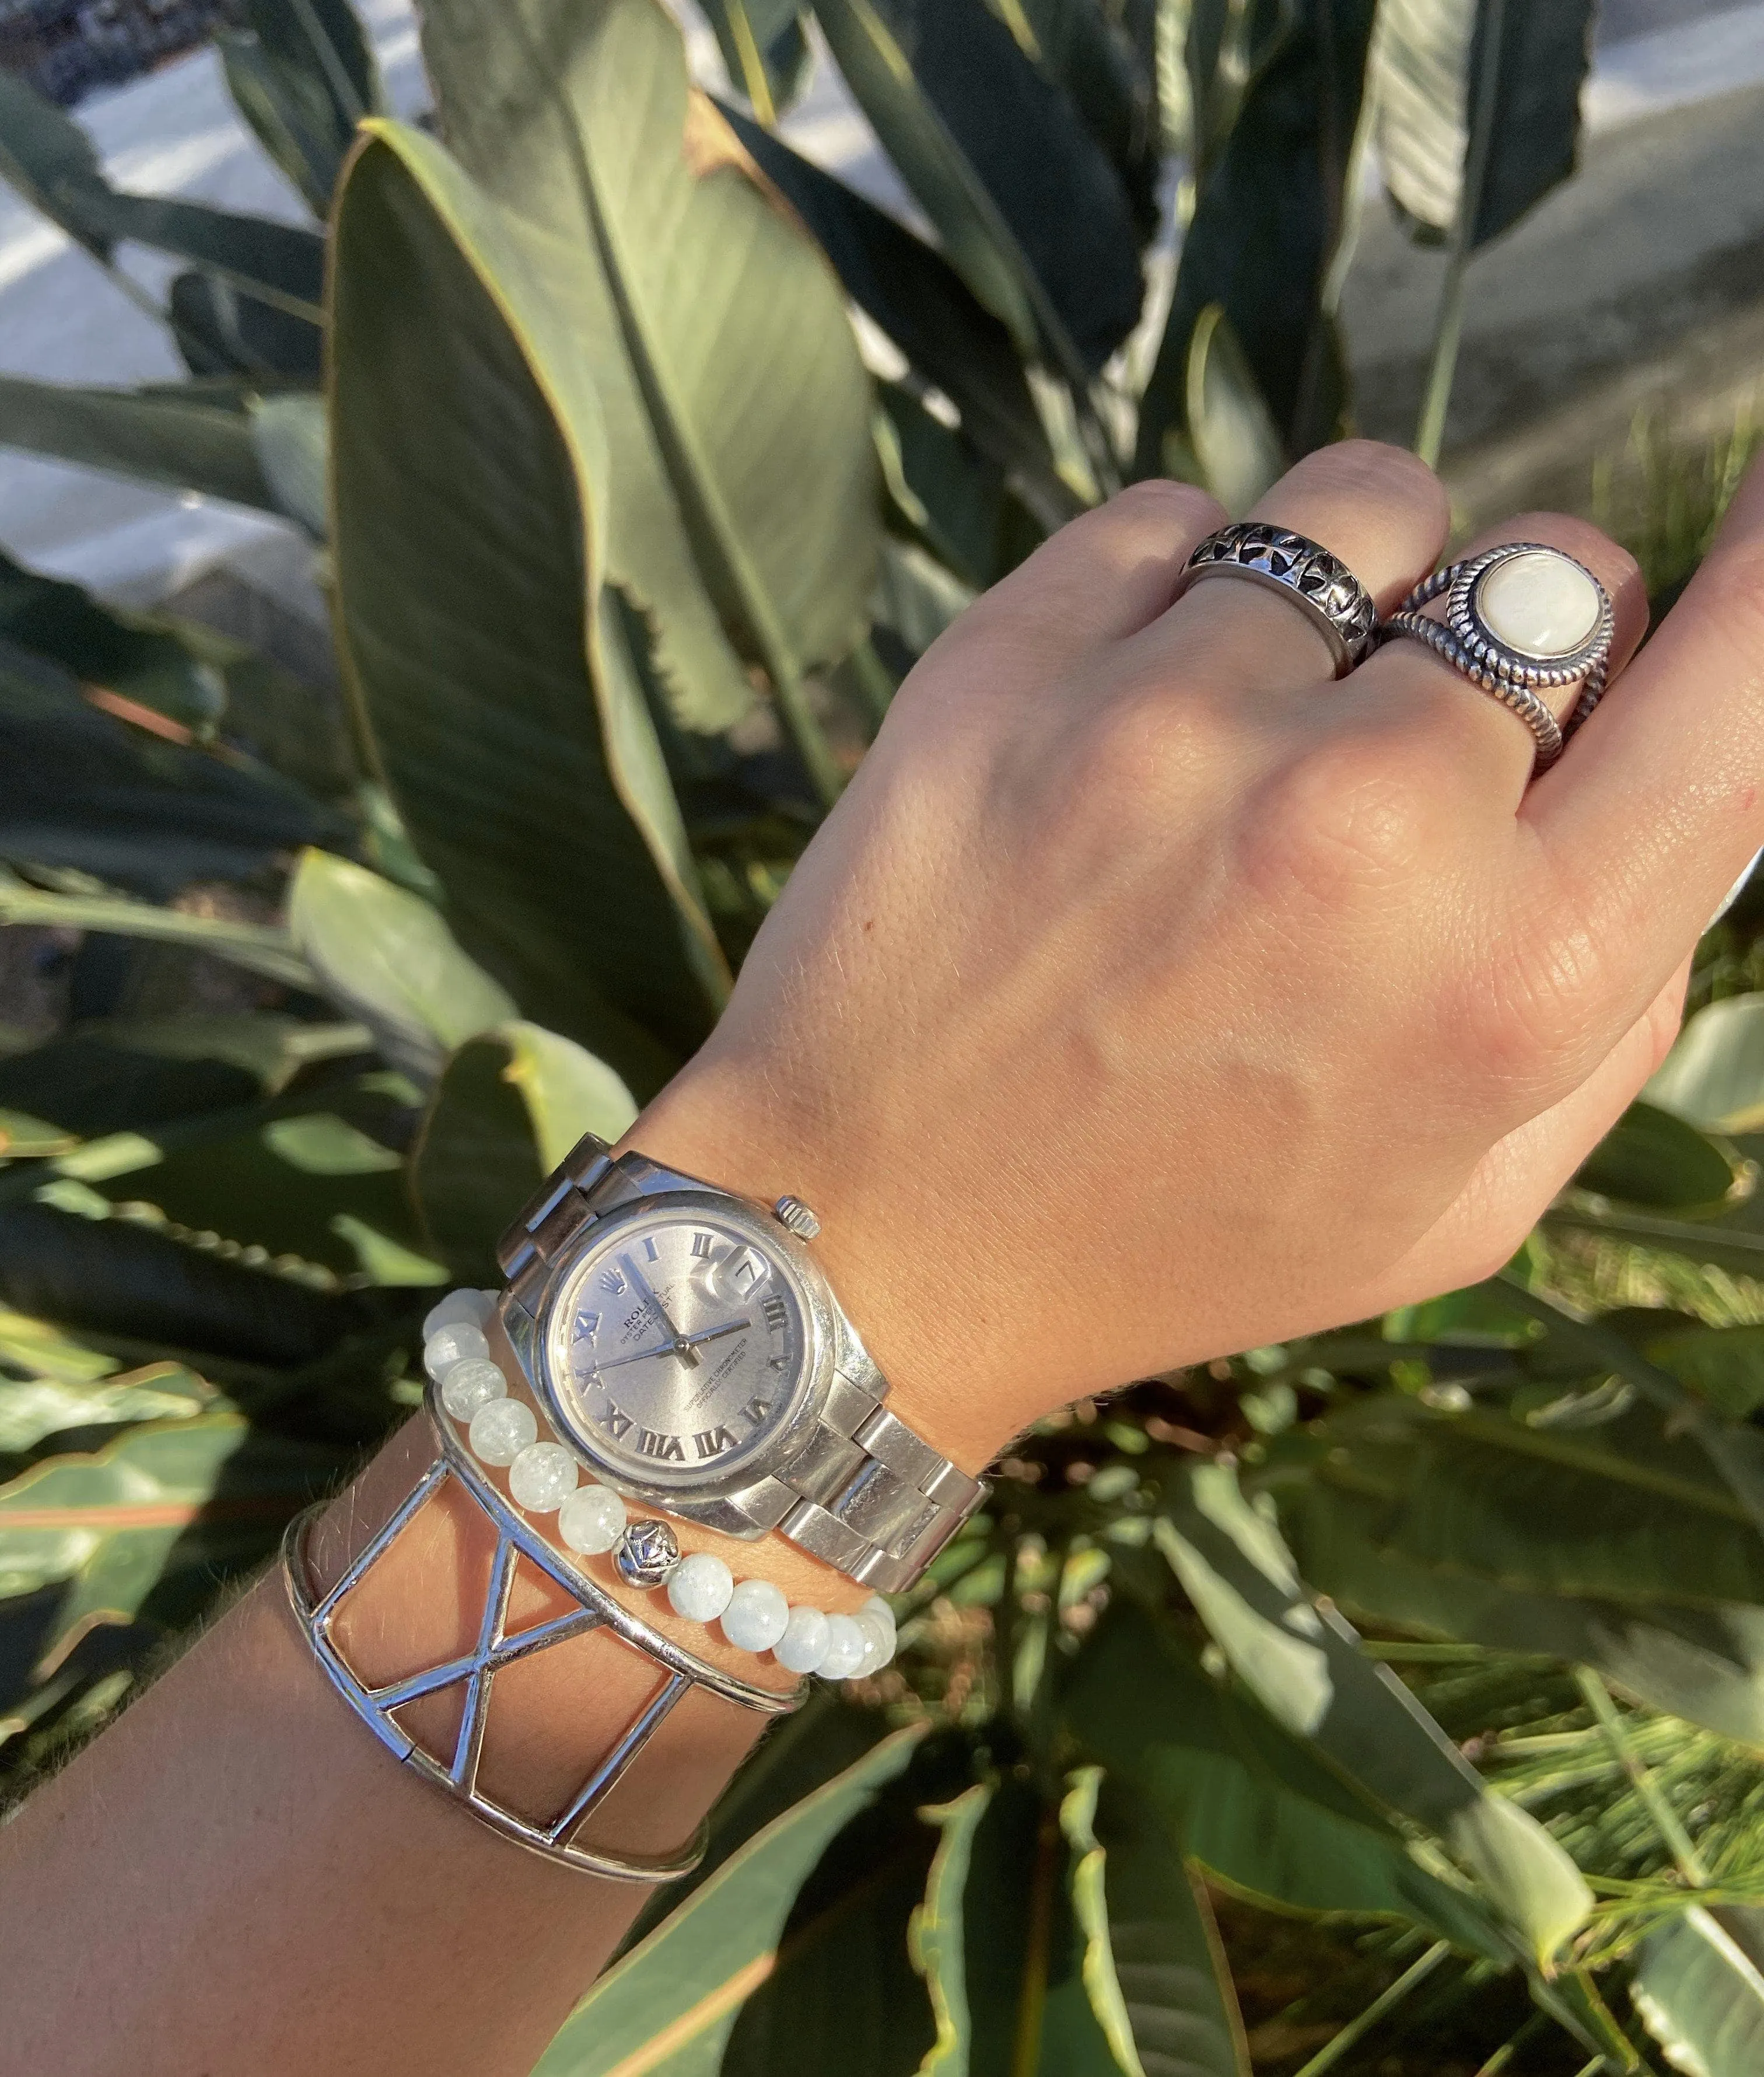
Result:
M706 0L710 93L656 0L419 25L419 120L347 0L218 27L301 222L0 75L0 170L187 370L0 376L0 442L278 515L336 638L0 561L17 1795L417 1402L436 1288L701 1041L901 675L1069 515L1241 511L1359 424L1664 606L1756 444L1741 326L1696 407L1625 366L1453 461L1581 0ZM894 212L787 141L828 77ZM1355 395L1368 212L1436 262ZM1760 962L1743 891L1494 1284L1023 1437L548 2077L1754 2077Z

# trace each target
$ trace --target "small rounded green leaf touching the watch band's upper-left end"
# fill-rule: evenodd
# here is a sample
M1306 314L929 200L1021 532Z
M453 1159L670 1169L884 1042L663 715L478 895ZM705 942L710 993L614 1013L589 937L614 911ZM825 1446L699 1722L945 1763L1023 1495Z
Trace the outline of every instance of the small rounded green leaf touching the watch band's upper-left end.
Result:
M618 1140L637 1105L618 1076L538 1024L500 1024L446 1063L411 1157L423 1228L452 1273L496 1282L496 1242L583 1132Z

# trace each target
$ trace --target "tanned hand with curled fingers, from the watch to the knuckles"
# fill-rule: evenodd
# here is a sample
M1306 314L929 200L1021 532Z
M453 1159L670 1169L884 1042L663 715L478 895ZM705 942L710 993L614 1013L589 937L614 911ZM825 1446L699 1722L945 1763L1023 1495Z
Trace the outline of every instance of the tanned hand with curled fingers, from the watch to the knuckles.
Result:
M1258 517L1380 611L1446 534L1368 442ZM1764 841L1758 474L1536 785L1525 727L1417 642L1330 683L1278 596L1170 604L1220 519L1141 484L930 650L631 1134L805 1196L901 1412L969 1466L1083 1392L1494 1271L1660 1059ZM1494 538L1596 571L1621 669L1629 557L1548 515Z

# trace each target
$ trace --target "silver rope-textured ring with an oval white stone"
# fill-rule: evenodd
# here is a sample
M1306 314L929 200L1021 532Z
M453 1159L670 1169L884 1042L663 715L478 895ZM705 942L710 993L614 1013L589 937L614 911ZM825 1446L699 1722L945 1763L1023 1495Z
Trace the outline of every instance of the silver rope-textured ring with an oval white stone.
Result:
M1430 621L1422 606L1440 594L1446 617ZM1583 563L1536 540L1509 540L1424 577L1378 640L1426 642L1525 723L1536 771L1548 771L1604 696L1615 627L1610 596ZM1575 681L1579 698L1563 725L1542 694Z

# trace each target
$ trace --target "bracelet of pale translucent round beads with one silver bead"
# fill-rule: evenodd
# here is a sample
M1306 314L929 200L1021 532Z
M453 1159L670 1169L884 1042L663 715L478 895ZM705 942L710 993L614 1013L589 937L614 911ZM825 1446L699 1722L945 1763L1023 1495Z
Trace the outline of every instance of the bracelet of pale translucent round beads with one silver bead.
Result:
M658 1520L631 1522L610 1485L583 1485L575 1456L558 1441L540 1441L533 1408L508 1396L508 1379L490 1358L484 1333L494 1311L494 1292L448 1292L423 1319L423 1369L442 1406L465 1425L471 1454L506 1471L517 1508L556 1514L558 1541L571 1552L581 1558L612 1552L627 1587L666 1587L677 1616L718 1622L737 1651L770 1651L793 1674L861 1680L894 1657L894 1612L880 1593L855 1616L830 1616L807 1603L793 1608L772 1581L737 1581L712 1552L681 1558L672 1529Z

